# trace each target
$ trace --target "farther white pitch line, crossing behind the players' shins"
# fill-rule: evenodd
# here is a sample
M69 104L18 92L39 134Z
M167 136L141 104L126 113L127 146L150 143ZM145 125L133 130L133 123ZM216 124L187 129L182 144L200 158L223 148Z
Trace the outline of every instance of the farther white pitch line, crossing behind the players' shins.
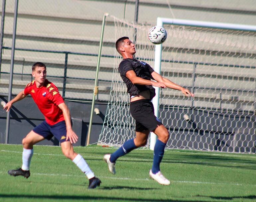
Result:
M8 151L8 150L0 150L3 152L12 152L12 153L22 153L22 151ZM64 156L63 154L43 154L43 153L34 153L35 155L45 155L45 156ZM87 155L83 155L84 158L100 158L103 159L102 156L87 156ZM121 158L122 160L138 160L138 161L148 161L148 160L152 160L153 159L145 159L145 158ZM198 164L203 164L203 165L211 165L212 163L207 163L207 162L200 162L200 161L184 161L184 160L163 160L162 163L198 163ZM223 165L223 164L232 164L232 165L255 165L255 163L230 163L230 162L226 162L226 163L221 163L221 162L213 162L214 164L218 164L218 165Z

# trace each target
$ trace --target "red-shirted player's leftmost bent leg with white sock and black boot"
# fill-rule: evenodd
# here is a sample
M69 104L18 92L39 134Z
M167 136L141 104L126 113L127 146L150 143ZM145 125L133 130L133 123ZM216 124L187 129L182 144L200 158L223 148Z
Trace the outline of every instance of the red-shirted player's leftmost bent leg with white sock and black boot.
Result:
M28 178L30 176L30 162L33 156L33 145L44 140L44 137L31 131L23 140L23 152L22 152L22 167L17 170L9 170L8 174L12 176L24 176Z

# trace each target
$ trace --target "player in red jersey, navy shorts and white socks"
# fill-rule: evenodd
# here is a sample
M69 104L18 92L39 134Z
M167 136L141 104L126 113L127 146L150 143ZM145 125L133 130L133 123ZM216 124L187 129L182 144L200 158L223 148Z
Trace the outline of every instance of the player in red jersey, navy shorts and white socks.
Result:
M33 155L33 145L50 140L55 136L61 143L63 154L71 159L89 179L89 189L100 186L101 181L95 177L84 158L74 152L72 143L77 142L77 135L72 130L69 109L58 88L46 79L46 66L42 62L36 62L32 66L32 75L35 80L29 83L14 99L8 102L4 109L8 112L13 103L31 95L39 110L43 113L45 121L34 128L23 140L22 167L17 170L9 170L13 176L30 176L29 166Z

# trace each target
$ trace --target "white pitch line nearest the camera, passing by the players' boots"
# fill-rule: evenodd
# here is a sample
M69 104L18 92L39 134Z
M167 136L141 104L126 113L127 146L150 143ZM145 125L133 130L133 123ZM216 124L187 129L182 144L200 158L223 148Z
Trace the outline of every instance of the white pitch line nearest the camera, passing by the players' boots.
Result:
M0 171L1 174L7 174L7 172ZM32 175L45 175L45 176L61 176L61 177L83 177L84 175L70 175L70 174L58 174L58 173L32 173ZM85 177L85 176L84 176ZM149 181L149 178L129 178L129 177L106 177L97 176L104 179L116 179L116 180L136 180L136 181ZM200 181L183 181L183 180L171 180L172 183L184 183L184 184L214 184L214 185L235 185L244 186L256 184L238 184L238 183L219 183L219 182L200 182Z

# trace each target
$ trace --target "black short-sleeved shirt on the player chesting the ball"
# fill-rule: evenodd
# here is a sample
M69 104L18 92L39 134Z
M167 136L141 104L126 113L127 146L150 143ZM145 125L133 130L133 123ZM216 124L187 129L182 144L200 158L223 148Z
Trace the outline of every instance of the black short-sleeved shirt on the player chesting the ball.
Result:
M120 72L120 75L127 86L127 92L130 94L130 96L138 95L140 92L149 90L150 99L152 99L156 95L155 88L153 88L152 85L133 84L126 77L127 71L130 71L130 70L133 70L138 77L146 80L150 80L150 79L153 79L153 77L151 76L151 73L154 72L154 69L146 62L142 62L142 61L139 61L136 59L130 59L130 58L123 59L120 62L118 67L118 71Z

